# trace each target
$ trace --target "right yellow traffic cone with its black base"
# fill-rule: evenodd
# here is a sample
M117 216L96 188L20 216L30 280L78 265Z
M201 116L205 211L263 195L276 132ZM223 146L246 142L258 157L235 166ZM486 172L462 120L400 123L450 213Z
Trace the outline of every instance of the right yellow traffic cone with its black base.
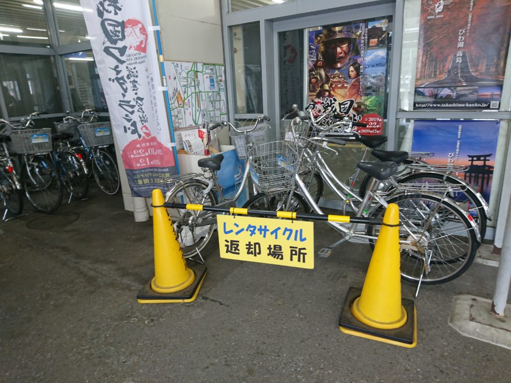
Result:
M403 347L417 344L415 305L401 299L399 208L389 204L362 291L350 288L342 332Z

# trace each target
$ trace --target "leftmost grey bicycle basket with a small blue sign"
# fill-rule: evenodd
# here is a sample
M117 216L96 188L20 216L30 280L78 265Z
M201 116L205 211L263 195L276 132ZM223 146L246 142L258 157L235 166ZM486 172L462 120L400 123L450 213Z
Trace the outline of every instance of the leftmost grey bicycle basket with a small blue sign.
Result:
M9 150L17 154L52 151L52 130L49 128L12 130L9 137L11 138Z

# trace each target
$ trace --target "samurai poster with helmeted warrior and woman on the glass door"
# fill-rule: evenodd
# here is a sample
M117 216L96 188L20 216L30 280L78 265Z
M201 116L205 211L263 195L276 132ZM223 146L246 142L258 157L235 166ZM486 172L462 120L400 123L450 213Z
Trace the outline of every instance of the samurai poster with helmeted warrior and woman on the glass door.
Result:
M317 115L336 112L382 134L386 110L388 19L308 31L308 95Z

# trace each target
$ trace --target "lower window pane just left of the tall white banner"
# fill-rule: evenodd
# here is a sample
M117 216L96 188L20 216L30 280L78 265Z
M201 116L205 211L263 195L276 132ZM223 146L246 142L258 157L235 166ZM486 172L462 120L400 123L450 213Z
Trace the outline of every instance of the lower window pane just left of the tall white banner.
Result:
M108 112L92 51L71 53L63 57L74 110Z

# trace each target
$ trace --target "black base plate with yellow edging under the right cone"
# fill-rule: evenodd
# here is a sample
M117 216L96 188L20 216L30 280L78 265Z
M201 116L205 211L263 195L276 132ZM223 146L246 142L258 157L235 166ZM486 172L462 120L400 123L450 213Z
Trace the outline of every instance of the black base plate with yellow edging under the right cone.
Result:
M375 328L359 322L351 313L350 306L355 299L360 297L362 289L350 288L342 307L339 319L339 329L347 334L357 337L372 339L379 342L390 343L396 346L412 348L417 345L417 317L415 305L410 299L402 299L402 305L406 310L406 323L395 329L386 330Z

